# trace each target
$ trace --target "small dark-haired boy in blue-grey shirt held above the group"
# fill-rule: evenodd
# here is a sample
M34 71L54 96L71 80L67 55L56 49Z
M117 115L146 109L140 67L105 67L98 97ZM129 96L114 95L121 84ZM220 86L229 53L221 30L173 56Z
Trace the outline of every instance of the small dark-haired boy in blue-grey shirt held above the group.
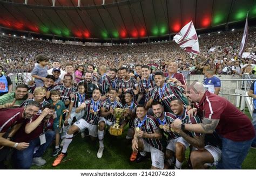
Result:
M47 79L45 78L48 73L47 73L47 65L49 58L46 55L43 54L38 54L36 56L36 61L39 63L39 65L36 65L33 70L32 70L32 77L35 78L35 83L37 87L43 87L44 86L44 81Z

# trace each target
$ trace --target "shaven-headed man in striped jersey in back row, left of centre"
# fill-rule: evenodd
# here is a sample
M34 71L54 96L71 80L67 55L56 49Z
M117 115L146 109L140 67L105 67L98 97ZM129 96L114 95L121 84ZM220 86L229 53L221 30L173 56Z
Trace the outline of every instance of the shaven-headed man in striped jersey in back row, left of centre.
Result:
M109 76L106 75L106 70L107 70L106 66L99 67L99 73L101 75L99 80L99 86L100 86L100 89L102 90L103 95L107 94L107 91L109 91L112 88L111 79Z

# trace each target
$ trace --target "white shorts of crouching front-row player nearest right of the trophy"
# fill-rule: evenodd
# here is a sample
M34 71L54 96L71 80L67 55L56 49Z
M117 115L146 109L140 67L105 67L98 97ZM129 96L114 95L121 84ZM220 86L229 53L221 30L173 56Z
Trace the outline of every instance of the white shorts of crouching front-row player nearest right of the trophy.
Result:
M142 140L144 145L144 151L150 152L151 154L151 165L159 169L164 169L164 152L151 146L149 143L146 142L145 139Z

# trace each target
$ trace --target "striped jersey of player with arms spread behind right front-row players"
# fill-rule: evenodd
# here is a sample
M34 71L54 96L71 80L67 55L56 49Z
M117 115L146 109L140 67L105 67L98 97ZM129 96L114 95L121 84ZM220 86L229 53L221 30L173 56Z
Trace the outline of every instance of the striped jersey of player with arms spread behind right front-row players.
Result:
M167 112L172 112L171 101L172 99L181 99L183 104L188 105L187 98L183 95L184 89L176 85L176 83L168 82L164 87L157 87L153 90L151 98L155 101L160 101L164 105Z

